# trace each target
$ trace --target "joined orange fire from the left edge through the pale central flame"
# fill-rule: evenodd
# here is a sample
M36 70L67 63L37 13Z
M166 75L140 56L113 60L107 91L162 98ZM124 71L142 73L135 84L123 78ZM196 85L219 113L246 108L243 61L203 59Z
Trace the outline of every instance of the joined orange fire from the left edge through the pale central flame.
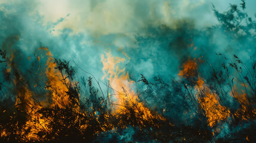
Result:
M139 125L141 128L150 125L154 128L159 128L161 121L165 120L145 107L139 100L138 94L133 91L132 88L135 86L135 82L130 80L126 69L118 67L118 64L124 62L124 58L113 57L110 52L106 53L106 56L102 55L101 61L103 63L103 71L105 71L103 78L109 80L109 84L113 89L112 94L116 96L114 104L118 106L112 113L101 112L100 110L103 107L95 108L96 111L90 113L90 111L80 109L80 95L78 92L76 92L78 98L71 97L71 90L78 83L73 79L67 78L67 75L59 69L58 61L52 57L53 55L48 48L39 49L44 54L35 56L35 61L39 62L39 68L42 68L38 69L36 74L45 78L42 80L45 85L43 96L47 97L47 101L38 99L38 93L33 90L33 88L38 88L41 85L39 83L28 85L22 72L15 68L15 64L10 64L16 58L15 54L12 54L13 56L8 60L8 65L10 65L8 72L16 72L13 80L15 91L17 92L15 107L17 110L22 111L25 117L23 123L19 123L19 120L17 121L16 126L19 125L19 127L14 132L10 132L7 130L8 128L1 127L0 135L2 138L9 138L8 136L14 134L19 136L22 142L48 141L47 139L54 139L55 136L59 136L59 133L61 134L65 130L73 132L73 125L75 125L75 132L78 133L88 132L87 130L91 129L93 129L93 133L114 129L111 118L118 120L117 125L121 126L121 128L126 128L127 125ZM31 58L28 58L28 60L31 60ZM41 67L41 63L44 63L44 61L46 63ZM111 94L109 94L110 96ZM51 100L48 100L48 98L51 98ZM127 121L124 122L126 119ZM64 123L66 120L70 123ZM93 125L90 125L92 122ZM53 125L55 123L56 125ZM58 126L57 130L54 126ZM62 130L60 131L59 128Z

